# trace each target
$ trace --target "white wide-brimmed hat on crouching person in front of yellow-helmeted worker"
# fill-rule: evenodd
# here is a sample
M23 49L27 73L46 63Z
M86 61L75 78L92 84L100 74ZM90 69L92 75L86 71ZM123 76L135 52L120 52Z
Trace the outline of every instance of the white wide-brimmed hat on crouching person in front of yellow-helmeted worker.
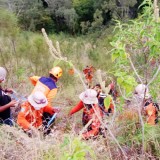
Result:
M28 101L34 107L35 110L40 110L48 104L46 96L40 91L32 93L28 97Z

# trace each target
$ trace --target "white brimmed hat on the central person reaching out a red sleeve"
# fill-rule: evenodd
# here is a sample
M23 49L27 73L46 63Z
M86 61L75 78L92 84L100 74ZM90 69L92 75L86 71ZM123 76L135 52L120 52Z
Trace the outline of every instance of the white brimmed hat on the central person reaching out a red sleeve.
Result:
M87 89L79 95L80 100L85 104L97 104L97 92L94 89Z

